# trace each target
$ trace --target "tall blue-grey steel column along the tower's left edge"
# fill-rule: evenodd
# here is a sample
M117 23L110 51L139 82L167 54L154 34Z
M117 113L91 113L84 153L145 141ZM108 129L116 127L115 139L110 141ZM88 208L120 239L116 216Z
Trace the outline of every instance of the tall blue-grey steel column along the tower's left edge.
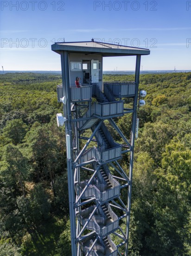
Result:
M66 105L64 105L65 122L65 135L70 136L70 147L72 149L72 126L71 126L71 104L70 104L70 80L69 80L69 58L68 52L61 52L61 67L62 67L62 82L63 82L63 95L66 96ZM76 215L75 215L75 192L74 192L74 171L73 171L73 154L70 152L70 159L67 158L67 171L68 171L68 192L69 192L69 206L70 206L70 230L71 230L71 249L72 256L77 256L76 252Z

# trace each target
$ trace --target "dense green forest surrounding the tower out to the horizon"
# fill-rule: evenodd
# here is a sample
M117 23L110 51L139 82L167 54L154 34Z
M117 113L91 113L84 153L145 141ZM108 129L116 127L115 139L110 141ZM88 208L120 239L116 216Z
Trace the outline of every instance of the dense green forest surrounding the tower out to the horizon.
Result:
M59 83L60 75L0 75L0 256L71 255ZM140 75L140 89L129 256L191 256L191 73ZM115 122L129 138L131 115Z

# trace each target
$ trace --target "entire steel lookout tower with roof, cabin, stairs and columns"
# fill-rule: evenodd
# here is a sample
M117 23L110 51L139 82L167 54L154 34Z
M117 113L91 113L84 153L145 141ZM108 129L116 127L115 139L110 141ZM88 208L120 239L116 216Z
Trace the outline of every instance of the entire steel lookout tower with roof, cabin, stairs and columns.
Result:
M94 40L55 43L52 50L61 55L57 100L64 117L57 120L65 125L72 256L127 256L140 57L150 51ZM103 82L102 61L109 56L135 56L134 81ZM132 108L124 107L127 97ZM114 121L129 113L130 140ZM120 165L125 154L129 170Z

